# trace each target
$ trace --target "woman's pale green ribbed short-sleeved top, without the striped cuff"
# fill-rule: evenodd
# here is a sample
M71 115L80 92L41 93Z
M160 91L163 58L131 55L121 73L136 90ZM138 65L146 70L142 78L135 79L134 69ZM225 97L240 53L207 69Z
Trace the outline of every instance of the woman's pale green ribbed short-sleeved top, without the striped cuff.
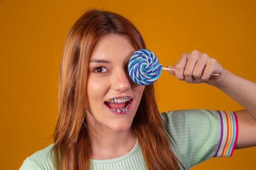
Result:
M186 169L216 156L222 140L222 116L213 110L177 110L162 113L171 148ZM225 137L223 137L224 139ZM54 170L49 156L53 144L23 162L20 170ZM231 149L234 149L231 146ZM217 155L218 156L218 155ZM146 170L139 142L126 155L107 160L91 159L91 170Z

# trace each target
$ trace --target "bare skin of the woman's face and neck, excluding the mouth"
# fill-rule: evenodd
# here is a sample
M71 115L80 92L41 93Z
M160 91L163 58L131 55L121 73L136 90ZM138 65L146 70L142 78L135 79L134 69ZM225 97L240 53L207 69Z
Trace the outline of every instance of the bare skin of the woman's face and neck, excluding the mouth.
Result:
M102 36L92 50L86 113L92 139L92 159L125 155L136 143L131 124L145 86L135 84L128 75L128 61L135 51L128 37L119 34ZM104 105L106 100L121 96L132 97L128 113L116 114Z

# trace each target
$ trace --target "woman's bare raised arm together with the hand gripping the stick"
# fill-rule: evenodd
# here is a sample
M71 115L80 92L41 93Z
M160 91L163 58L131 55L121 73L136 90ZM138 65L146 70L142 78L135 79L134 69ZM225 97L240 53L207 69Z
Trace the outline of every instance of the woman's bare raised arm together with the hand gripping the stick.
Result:
M256 83L239 77L222 68L207 54L198 51L184 53L169 71L177 79L188 83L202 83L216 86L241 104L245 110L236 111L238 117L238 140L236 148L256 146ZM219 76L211 76L218 73Z

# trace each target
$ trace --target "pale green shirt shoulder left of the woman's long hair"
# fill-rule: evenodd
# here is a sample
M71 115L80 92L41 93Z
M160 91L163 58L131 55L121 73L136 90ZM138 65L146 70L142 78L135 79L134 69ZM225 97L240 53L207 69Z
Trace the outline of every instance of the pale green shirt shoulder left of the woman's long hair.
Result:
M19 170L54 170L52 162L53 144L27 157Z

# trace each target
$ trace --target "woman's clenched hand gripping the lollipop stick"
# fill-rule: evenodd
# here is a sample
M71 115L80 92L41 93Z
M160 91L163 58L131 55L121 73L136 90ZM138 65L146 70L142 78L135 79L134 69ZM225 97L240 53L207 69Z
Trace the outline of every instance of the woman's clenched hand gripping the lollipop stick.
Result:
M196 50L184 53L175 66L167 66L167 68L175 68L175 71L169 73L187 83L207 82L213 85L221 80L223 73L222 66L214 58ZM211 75L213 73L218 73L219 76Z

